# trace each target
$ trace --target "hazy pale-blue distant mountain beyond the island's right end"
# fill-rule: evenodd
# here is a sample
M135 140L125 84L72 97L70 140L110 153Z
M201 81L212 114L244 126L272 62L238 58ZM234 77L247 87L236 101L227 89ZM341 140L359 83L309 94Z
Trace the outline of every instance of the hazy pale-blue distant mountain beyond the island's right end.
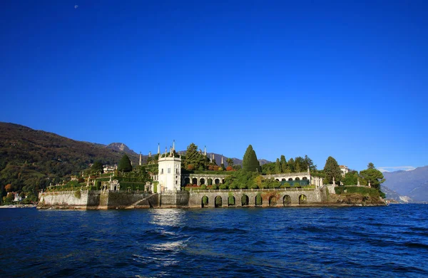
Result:
M410 171L394 171L383 173L386 181L384 187L408 196L415 202L428 202L428 166Z

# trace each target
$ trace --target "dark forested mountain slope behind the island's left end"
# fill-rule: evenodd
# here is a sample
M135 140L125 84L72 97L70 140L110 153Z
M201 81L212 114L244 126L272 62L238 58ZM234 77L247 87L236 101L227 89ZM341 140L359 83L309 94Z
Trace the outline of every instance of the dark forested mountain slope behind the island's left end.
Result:
M76 175L94 160L116 164L129 150L121 143L118 148L0 122L0 192L8 183L14 190L21 190L24 185L44 187L46 183L58 182L60 177ZM138 164L138 155L128 156L134 165Z

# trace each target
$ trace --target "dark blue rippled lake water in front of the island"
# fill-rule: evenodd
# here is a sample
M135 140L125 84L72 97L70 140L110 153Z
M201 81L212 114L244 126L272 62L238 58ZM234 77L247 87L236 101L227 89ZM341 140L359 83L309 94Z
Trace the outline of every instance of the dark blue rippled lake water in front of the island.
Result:
M427 277L428 205L0 210L1 277Z

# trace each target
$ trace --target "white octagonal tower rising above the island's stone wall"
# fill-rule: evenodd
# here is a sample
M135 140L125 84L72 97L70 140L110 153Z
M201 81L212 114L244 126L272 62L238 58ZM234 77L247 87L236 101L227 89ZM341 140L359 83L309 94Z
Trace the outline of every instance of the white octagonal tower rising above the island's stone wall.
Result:
M159 186L158 192L180 190L181 187L181 158L175 158L172 149L165 152L165 157L158 159ZM158 193L156 192L156 193Z

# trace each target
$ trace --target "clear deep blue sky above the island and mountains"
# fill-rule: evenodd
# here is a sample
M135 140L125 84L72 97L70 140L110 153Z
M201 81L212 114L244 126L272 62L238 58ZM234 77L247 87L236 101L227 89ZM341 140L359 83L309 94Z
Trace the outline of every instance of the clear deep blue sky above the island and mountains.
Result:
M75 5L78 5L75 7ZM2 1L0 121L137 153L427 165L427 1Z

